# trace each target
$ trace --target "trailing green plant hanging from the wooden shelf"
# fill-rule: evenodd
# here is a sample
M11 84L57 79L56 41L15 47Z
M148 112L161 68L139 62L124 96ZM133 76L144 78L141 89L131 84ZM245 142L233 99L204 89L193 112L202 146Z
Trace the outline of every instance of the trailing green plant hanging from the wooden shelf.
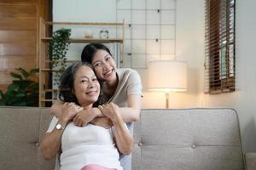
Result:
M71 29L61 28L60 30L54 31L52 38L49 41L49 68L59 69L55 71L54 85L59 84L61 73L66 69L67 61L67 49L69 45L69 37L71 35Z

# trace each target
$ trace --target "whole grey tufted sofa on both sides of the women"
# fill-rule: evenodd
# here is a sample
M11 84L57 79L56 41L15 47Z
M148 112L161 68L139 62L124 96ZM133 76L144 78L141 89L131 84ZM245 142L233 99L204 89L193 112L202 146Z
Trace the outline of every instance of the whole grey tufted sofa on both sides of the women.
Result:
M1 107L0 169L53 169L39 149L50 120L49 109ZM143 110L134 139L133 170L256 169L230 109Z

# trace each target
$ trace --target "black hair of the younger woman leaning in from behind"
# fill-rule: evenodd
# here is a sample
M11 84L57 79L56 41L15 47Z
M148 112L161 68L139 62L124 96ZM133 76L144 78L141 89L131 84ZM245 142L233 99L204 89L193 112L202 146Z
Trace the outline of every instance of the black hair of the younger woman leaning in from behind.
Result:
M83 63L87 62L91 64L94 54L96 54L96 52L100 49L107 51L108 54L112 56L110 50L102 43L90 43L84 47L81 54L81 61Z

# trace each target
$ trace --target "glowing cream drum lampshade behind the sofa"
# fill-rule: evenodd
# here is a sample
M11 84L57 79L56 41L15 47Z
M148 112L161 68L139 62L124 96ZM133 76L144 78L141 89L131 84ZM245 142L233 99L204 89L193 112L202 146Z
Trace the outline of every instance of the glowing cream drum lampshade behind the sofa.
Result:
M149 62L148 90L164 92L186 91L187 64L176 60Z

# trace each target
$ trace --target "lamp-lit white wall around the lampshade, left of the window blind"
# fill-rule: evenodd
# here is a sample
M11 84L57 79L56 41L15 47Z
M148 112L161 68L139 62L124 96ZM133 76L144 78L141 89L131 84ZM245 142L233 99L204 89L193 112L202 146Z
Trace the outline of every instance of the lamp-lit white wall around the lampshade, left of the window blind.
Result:
M177 60L188 64L188 89L185 93L170 94L170 108L191 108L200 106L199 75L200 59L204 55L203 11L204 3L199 0L177 0L176 51ZM202 13L202 14L201 14ZM202 16L202 20L201 17ZM201 27L202 26L202 27ZM203 33L203 32L202 32ZM165 94L147 91L147 70L139 70L143 78L143 108L165 108Z

